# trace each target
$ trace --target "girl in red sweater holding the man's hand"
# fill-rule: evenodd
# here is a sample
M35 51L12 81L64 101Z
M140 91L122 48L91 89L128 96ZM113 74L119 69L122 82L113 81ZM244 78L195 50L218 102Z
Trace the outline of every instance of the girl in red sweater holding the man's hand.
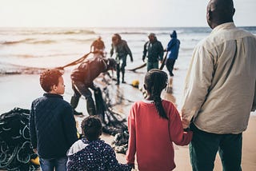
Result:
M166 171L175 168L174 146L188 145L192 132L184 132L178 110L170 101L161 99L168 76L162 70L147 72L144 88L146 100L132 105L128 116L130 133L127 163L134 165L136 153L140 171Z

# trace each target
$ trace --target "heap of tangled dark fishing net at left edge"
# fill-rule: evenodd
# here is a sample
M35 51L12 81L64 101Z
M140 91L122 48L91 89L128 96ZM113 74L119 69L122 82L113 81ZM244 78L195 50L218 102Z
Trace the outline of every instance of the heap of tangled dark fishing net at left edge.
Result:
M30 159L38 157L30 145L30 110L14 108L0 117L0 169L34 171Z

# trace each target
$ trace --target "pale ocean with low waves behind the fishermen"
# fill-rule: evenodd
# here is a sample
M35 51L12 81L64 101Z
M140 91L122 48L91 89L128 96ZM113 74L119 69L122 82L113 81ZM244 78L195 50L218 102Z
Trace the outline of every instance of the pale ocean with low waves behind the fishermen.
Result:
M242 27L256 35L256 27ZM186 70L194 46L210 34L208 27L161 27L161 28L0 28L0 78L13 74L28 74L21 69L54 68L65 66L90 52L91 43L102 37L106 46L106 57L110 57L111 37L118 33L126 40L134 56L134 62L127 58L126 69L142 65L142 50L150 33L156 34L166 48L170 33L177 31L181 42L178 60L175 63L173 95L178 107ZM67 72L72 67L66 68ZM164 68L166 71L166 68ZM144 75L146 67L138 74ZM134 77L129 72L126 78ZM134 78L129 78L128 81ZM0 84L3 82L0 81ZM142 85L142 82L140 82Z

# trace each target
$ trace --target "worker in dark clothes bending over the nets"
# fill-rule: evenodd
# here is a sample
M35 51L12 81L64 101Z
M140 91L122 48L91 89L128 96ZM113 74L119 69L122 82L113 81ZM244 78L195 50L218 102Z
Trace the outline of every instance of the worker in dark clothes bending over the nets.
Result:
M94 54L93 58L82 62L78 68L72 71L71 80L74 95L71 97L70 104L74 109L75 115L82 114L75 111L81 95L86 97L87 112L90 115L96 115L95 104L90 89L93 89L97 93L98 88L94 85L94 79L97 78L99 74L105 73L107 70L115 69L115 66L116 62L113 58L103 58L102 54L99 53Z

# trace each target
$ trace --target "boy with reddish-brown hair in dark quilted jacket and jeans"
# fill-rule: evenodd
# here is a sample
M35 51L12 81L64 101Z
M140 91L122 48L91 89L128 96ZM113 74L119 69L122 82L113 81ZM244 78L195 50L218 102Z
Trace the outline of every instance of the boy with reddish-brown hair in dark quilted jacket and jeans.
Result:
M31 145L42 171L65 171L66 152L78 140L73 109L61 96L65 85L59 70L44 71L40 84L46 93L31 105Z

